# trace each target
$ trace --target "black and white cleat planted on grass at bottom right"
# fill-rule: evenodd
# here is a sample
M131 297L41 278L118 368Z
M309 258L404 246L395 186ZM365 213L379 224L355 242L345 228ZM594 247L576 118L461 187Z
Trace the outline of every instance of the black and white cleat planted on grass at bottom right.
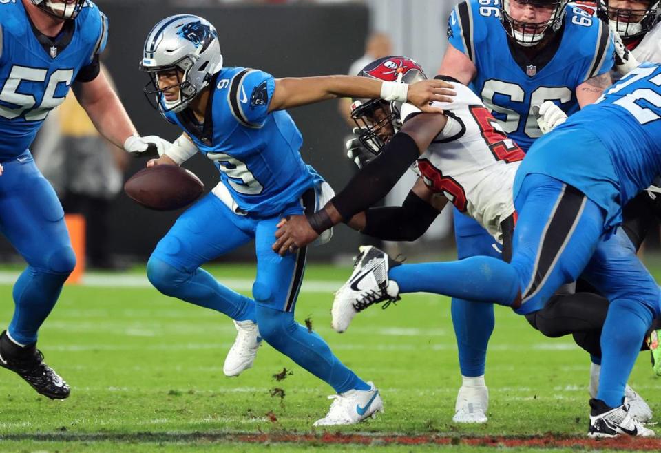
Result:
M591 399L590 426L587 435L596 437L617 437L620 434L628 436L649 437L654 432L645 428L640 421L631 417L629 406L622 404L617 408L609 408L600 399Z

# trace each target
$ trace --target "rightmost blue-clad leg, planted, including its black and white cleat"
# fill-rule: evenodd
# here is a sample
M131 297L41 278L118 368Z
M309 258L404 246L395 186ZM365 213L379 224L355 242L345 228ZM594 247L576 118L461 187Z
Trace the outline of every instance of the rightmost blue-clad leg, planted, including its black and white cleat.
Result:
M622 232L599 244L584 276L611 301L602 329L602 365L596 399L591 401L590 434L612 436L624 432L651 435L651 430L635 424L631 424L633 428L617 423L613 425L610 418L620 417L620 412L632 417L633 410L628 408L631 403L636 403L636 410L640 412L638 400L627 401L627 405L623 405L625 387L644 335L659 314L658 285L638 260L633 244ZM651 411L644 417L649 418Z

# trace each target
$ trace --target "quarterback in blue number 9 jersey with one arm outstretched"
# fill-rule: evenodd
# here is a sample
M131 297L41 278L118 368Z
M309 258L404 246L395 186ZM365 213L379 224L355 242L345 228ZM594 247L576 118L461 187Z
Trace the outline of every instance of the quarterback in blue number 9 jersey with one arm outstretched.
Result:
M201 152L220 183L185 211L156 246L147 276L158 291L218 310L238 331L223 370L236 376L253 365L262 338L333 387L336 395L317 426L358 423L383 410L378 390L346 368L316 333L294 320L306 249L280 257L271 250L283 215L317 210L332 194L300 156L302 136L284 110L337 96L405 99L428 111L446 83L381 83L330 76L273 78L260 70L223 67L218 34L191 14L168 17L147 36L143 71L154 105L184 134L148 165L181 165ZM447 94L450 94L449 92ZM446 98L450 100L449 98ZM253 299L220 284L200 266L255 241ZM328 238L326 238L328 240Z

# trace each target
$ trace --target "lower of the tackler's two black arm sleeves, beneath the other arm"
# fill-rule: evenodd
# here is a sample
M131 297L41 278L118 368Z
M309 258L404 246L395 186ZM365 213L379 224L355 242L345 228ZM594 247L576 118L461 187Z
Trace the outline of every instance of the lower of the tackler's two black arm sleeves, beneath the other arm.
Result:
M401 206L365 211L366 225L361 233L386 241L415 241L437 215L437 209L410 191Z

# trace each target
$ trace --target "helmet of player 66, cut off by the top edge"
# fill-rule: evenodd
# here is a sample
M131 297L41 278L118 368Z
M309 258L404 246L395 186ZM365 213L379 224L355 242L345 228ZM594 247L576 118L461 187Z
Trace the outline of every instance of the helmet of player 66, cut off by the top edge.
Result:
M534 7L552 8L551 17L543 22L518 21L512 17L512 0L501 1L500 19L505 27L505 32L518 45L530 47L537 45L544 36L560 30L565 19L565 8L569 0L516 0L518 3L529 4Z

